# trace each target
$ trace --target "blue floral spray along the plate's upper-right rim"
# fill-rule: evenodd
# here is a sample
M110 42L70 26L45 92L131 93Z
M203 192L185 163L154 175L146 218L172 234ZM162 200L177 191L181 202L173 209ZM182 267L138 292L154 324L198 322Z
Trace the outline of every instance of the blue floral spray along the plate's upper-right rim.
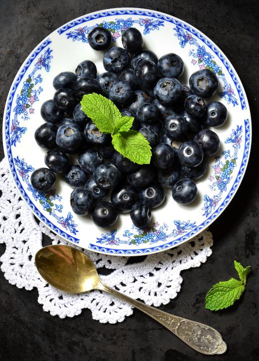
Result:
M206 51L205 46L200 45L194 36L187 30L184 30L178 25L174 27L174 30L174 35L180 40L179 44L182 48L184 48L186 44L194 45L194 47L189 50L189 56L192 57L191 63L193 65L199 65L200 69L210 69L223 80L224 91L220 92L219 96L226 99L228 104L231 103L234 107L238 105L236 94L234 93L231 84L226 80L226 76L224 75L222 68L214 60L214 55Z

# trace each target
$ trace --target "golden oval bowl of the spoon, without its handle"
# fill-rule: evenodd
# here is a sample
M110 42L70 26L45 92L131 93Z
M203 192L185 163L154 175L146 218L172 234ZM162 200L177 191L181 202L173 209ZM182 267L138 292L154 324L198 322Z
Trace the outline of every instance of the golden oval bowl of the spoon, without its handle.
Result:
M94 263L83 252L69 246L41 248L35 256L36 267L51 286L68 293L81 293L100 287Z

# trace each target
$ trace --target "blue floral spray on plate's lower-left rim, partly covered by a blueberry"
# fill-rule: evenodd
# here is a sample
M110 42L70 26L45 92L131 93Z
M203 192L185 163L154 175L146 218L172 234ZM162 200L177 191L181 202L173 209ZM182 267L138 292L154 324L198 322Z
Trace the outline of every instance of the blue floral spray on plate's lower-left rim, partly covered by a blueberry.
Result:
M24 159L19 159L19 157L14 158L14 164L22 181L26 183L27 190L32 193L33 198L36 201L39 201L42 208L46 210L49 215L55 217L63 228L69 230L73 234L76 234L76 232L78 232L76 229L77 224L75 224L71 212L68 212L66 217L58 215L58 213L62 213L63 205L57 204L57 202L61 202L62 197L56 194L56 190L51 189L47 193L39 192L31 185L29 180L29 173L33 172L34 168L28 166Z

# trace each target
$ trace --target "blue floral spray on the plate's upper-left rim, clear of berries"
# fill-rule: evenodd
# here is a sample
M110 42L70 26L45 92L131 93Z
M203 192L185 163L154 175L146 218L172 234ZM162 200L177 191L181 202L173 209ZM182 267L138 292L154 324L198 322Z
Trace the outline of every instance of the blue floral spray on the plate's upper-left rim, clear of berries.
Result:
M16 97L16 106L13 108L14 117L12 119L11 125L11 145L16 146L16 142L20 143L20 138L27 130L26 127L20 126L20 120L27 121L29 119L29 114L34 113L32 108L33 103L39 100L38 96L42 92L42 87L39 85L42 82L42 76L40 73L36 74L38 70L44 68L47 72L50 69L50 59L53 58L51 55L52 50L47 48L44 54L37 59L34 69L29 74L28 78L23 82L22 89L20 94L17 94ZM29 111L29 113L28 113Z

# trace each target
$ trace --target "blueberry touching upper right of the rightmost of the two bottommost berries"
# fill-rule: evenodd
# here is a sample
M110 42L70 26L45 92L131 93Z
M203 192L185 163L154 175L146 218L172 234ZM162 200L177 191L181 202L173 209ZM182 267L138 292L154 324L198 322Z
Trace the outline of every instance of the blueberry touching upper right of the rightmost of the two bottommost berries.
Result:
M149 184L140 190L139 199L150 208L158 207L165 199L164 188L160 184Z

